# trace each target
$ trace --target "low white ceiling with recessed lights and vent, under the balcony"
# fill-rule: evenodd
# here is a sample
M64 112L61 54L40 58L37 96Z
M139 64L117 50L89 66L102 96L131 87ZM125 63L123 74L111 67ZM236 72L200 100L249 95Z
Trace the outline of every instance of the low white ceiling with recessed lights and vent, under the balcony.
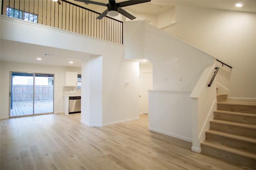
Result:
M15 49L15 50L14 50ZM53 57L44 54L54 54ZM81 67L86 53L1 39L1 61ZM41 58L42 60L37 60ZM73 64L69 62L73 61Z

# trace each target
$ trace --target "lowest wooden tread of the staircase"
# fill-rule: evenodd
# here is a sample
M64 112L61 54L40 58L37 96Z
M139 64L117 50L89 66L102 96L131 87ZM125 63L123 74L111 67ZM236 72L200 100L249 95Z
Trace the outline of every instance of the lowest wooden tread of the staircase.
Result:
M201 145L204 145L204 146L207 146L207 147L212 147L212 148L215 148L215 149L223 150L225 152L230 152L232 154L237 154L237 155L240 155L240 156L244 156L244 157L256 160L256 154L246 152L244 150L236 149L236 148L233 148L233 147L229 147L227 145L222 145L220 143L215 143L215 142L205 140L201 143Z

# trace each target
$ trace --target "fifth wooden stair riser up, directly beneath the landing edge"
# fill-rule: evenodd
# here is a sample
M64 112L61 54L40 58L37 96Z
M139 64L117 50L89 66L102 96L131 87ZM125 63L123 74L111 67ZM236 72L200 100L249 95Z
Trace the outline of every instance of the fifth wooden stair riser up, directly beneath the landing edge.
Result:
M231 104L217 104L218 110L236 111L244 113L256 113L256 106L241 106Z

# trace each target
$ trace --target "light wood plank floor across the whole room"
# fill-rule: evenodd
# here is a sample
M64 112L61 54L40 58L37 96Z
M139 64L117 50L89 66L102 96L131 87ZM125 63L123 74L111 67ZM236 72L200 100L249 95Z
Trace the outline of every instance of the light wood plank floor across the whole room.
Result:
M150 132L148 117L107 127L80 113L0 121L1 170L242 170L190 150L192 144Z

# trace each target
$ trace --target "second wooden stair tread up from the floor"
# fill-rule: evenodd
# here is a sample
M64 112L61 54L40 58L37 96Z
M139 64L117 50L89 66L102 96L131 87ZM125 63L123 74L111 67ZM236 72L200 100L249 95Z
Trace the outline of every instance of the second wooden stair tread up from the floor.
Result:
M245 137L245 136L235 135L235 134L226 133L226 132L222 132L222 131L215 131L215 130L212 130L212 129L207 130L206 133L211 133L211 134L219 135L219 136L222 136L222 137L228 137L228 138L231 138L231 139L237 139L237 140L240 140L240 141L256 143L256 139L252 138L252 137Z

